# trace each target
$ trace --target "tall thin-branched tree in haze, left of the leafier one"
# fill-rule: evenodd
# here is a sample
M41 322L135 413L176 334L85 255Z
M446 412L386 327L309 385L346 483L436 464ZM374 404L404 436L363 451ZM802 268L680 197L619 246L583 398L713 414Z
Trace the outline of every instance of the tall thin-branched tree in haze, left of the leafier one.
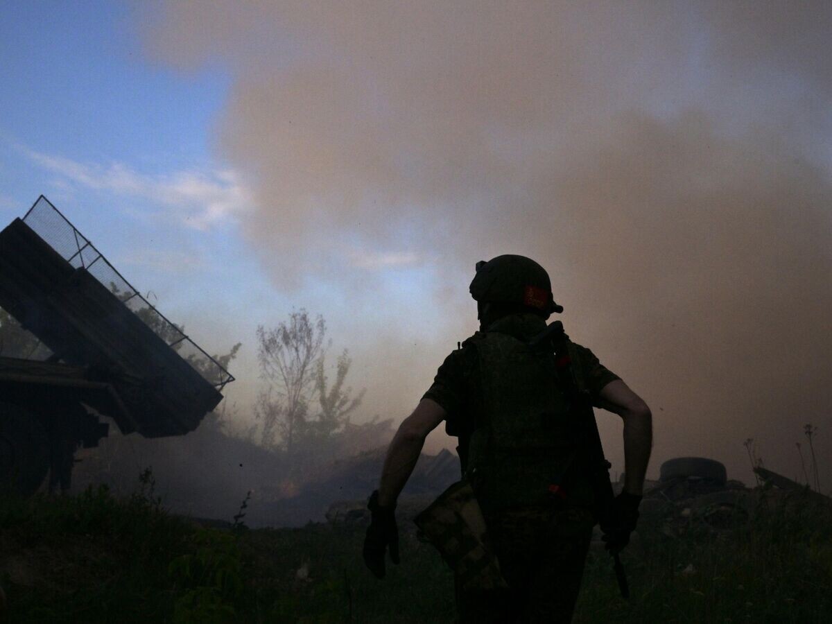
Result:
M257 327L260 376L268 387L260 393L255 417L263 421L265 446L274 445L275 433L280 433L286 452L295 452L313 399L315 366L324 355L325 334L324 318L319 315L312 321L304 308L276 328Z

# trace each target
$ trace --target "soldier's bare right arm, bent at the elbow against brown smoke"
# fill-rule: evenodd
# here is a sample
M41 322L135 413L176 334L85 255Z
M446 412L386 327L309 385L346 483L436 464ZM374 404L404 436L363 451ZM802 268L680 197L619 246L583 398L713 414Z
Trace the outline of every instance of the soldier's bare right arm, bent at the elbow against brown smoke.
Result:
M600 397L600 407L618 414L624 421L624 489L641 496L653 444L650 408L621 379L604 386Z

